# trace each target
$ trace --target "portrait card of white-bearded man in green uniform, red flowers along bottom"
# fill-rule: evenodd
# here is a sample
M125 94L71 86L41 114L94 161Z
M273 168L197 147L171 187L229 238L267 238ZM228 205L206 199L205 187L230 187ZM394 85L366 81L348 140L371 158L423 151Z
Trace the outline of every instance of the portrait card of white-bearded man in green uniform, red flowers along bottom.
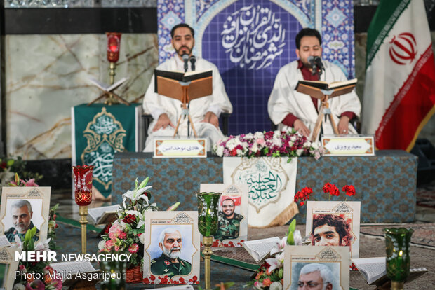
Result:
M199 284L198 212L145 212L145 284Z

